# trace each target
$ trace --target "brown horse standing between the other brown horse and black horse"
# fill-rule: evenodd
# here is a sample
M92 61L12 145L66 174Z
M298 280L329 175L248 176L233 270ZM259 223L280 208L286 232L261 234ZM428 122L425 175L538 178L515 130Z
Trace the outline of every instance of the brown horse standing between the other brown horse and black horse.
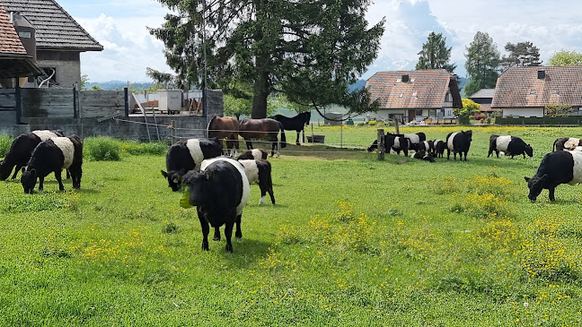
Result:
M271 118L244 118L239 125L239 134L244 141L246 141L247 149L249 150L252 149L251 139L262 139L268 137L269 142L273 144L271 148L271 157L275 154L275 148L278 150L279 142L277 134L279 131L281 132L281 148L285 148L287 146L285 131L283 130L283 125L281 125L277 120Z

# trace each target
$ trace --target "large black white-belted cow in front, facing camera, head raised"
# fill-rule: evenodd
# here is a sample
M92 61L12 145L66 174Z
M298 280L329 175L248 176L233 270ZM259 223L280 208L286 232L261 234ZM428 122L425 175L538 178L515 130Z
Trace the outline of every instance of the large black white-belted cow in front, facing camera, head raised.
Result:
M225 225L226 251L233 252L231 237L241 238L242 209L249 200L251 186L242 164L225 157L207 159L199 171L190 170L183 176L188 185L190 204L196 206L202 227L202 250L208 250L210 224L215 228L214 240L220 240L219 228Z

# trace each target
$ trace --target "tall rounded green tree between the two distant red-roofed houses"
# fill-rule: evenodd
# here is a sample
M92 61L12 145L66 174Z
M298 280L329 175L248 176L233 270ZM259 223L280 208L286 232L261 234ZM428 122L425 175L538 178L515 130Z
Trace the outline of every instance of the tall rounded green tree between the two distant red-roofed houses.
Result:
M465 68L470 81L464 86L465 95L469 97L478 90L495 88L500 55L493 39L488 33L478 31L466 49Z

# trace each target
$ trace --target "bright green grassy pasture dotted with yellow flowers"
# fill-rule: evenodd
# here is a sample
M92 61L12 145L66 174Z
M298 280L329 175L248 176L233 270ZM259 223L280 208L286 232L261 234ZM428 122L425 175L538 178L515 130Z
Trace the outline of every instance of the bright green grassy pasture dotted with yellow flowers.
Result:
M314 133L363 149L375 129ZM163 155L87 156L78 191L1 182L0 325L582 324L582 188L532 203L524 181L581 130L472 129L467 162L290 145L270 159L277 205L251 185L234 254L224 240L201 251ZM491 133L524 138L534 158L488 159Z

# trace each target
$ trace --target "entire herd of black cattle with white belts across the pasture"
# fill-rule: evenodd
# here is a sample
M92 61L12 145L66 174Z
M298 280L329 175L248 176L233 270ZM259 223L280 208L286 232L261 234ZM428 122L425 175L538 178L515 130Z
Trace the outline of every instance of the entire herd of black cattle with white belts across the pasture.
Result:
M298 140L297 140L298 141ZM435 158L467 160L471 147L472 131L449 133L445 141L427 141L425 133L384 135L384 151L390 153L402 151L408 157L435 162ZM378 149L375 141L368 151ZM560 138L553 143L553 151L546 154L536 173L531 178L525 177L529 187L528 198L535 201L542 189L549 190L551 201L555 200L557 185L576 185L582 183L582 141L577 138ZM531 145L522 139L510 135L491 135L489 138L489 156L499 152L507 156L525 155L533 157ZM202 227L202 249L208 249L207 235L209 225L215 228L214 240L220 240L219 228L225 225L226 251L232 252L231 236L236 225L235 237L242 237L242 209L250 196L250 184L260 187L260 204L269 193L275 204L271 165L264 149L249 150L234 159L223 155L223 140L218 138L200 138L172 144L166 154L166 170L162 175L167 179L172 191L180 191L188 186L189 202L197 207L198 219ZM43 189L44 177L55 173L59 190L65 187L61 172L66 169L67 178L72 178L73 187L81 187L83 175L83 142L76 135L66 137L62 132L33 131L23 133L14 139L9 151L0 161L0 179L7 179L12 173L16 178L22 171L21 183L24 193L32 194L39 181L39 190ZM22 169L22 170L21 170Z

